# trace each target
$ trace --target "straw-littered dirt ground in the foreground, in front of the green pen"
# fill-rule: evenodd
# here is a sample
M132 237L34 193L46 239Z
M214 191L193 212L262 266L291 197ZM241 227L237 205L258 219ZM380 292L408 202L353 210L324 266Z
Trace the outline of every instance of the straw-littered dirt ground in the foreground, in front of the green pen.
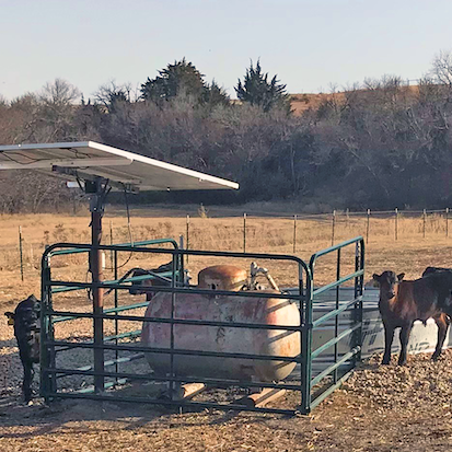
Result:
M89 401L47 407L1 394L2 451L449 451L452 352L409 357L397 368L372 358L310 416L202 410Z

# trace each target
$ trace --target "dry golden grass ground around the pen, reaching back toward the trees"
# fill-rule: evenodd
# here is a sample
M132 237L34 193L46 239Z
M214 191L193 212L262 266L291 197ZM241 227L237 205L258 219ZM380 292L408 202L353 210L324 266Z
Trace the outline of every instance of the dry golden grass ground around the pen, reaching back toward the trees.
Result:
M177 213L179 215L179 212ZM39 293L39 258L46 244L89 241L89 215L0 217L0 314L10 311L30 293ZM106 215L104 243L129 241L127 221ZM447 236L445 219L429 216L425 237L421 218L401 217L395 240L394 218L372 216L366 246L366 280L375 271L405 271L406 278L420 276L428 265L452 267L452 236ZM134 241L186 234L186 219L173 216L153 218L132 212ZM19 227L23 234L24 281L19 259ZM293 219L255 218L246 220L246 251L293 254ZM366 218L338 217L335 243L367 233ZM297 221L295 255L309 259L312 253L332 243L331 217ZM189 247L197 250L243 251L243 218L200 218L189 224ZM119 256L119 263L129 254ZM132 255L120 274L140 266L151 268L165 256ZM202 267L218 258L192 256L188 268L194 281ZM107 266L109 256L106 256ZM250 262L231 259L237 265ZM341 275L351 270L354 250L341 256ZM282 262L259 262L280 286L297 281L297 268ZM335 255L320 259L316 283L332 281ZM53 260L53 276L86 280L86 257ZM105 270L105 277L112 276ZM70 292L58 299L60 306L89 306L85 293ZM108 304L111 301L106 300ZM89 323L85 325L89 328ZM73 336L77 331L61 331ZM405 370L382 369L375 361L364 363L348 386L336 392L309 417L281 418L206 410L175 414L155 407L114 404L61 403L50 407L20 402L21 367L12 329L0 317L0 450L1 451L445 451L452 443L452 364L450 354L438 364L427 357L410 357ZM433 385L433 386L432 386ZM366 392L364 389L369 391ZM378 391L373 391L378 387ZM440 387L440 390L438 390ZM394 398L391 394L397 394ZM412 403L416 398L416 404ZM395 401L392 403L392 401Z

